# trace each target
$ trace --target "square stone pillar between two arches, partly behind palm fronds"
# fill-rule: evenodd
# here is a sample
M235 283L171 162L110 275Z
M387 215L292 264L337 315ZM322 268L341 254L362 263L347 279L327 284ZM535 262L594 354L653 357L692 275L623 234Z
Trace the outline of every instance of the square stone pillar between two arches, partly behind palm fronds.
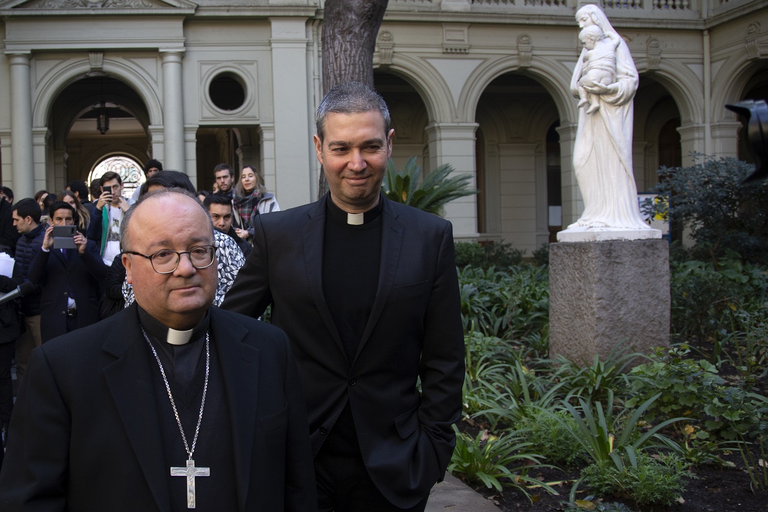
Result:
M433 123L426 127L429 138L429 172L451 164L454 174L469 174L469 187L475 188L475 130L477 123ZM477 197L467 196L445 205L445 218L453 223L453 236L476 239L478 236Z

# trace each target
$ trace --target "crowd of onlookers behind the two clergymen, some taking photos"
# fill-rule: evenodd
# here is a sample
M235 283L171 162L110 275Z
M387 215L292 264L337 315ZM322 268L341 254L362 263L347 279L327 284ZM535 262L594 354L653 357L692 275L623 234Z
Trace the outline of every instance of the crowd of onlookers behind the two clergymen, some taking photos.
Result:
M226 170L229 180L219 180ZM144 165L146 181L130 197L123 195L119 173L107 172L90 187L73 180L61 193L40 190L15 201L13 190L0 187L0 253L15 260L12 276L0 275L0 293L23 282L34 292L0 304L0 433L5 448L13 408L12 364L20 383L31 351L59 335L105 319L134 301L121 255L124 213L141 195L178 187L197 194L214 220L217 248L217 305L250 253L253 216L280 210L266 192L257 170L247 165L233 187L233 170L216 167L214 190L194 189L186 174L163 170L158 160ZM74 226L71 243L57 243L55 226ZM53 256L51 256L51 254ZM0 451L2 464L2 451Z

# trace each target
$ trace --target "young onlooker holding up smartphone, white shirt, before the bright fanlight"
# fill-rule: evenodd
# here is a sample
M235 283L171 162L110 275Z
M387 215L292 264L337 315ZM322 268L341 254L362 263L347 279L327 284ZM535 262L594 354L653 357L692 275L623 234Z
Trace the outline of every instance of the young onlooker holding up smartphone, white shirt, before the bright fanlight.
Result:
M96 202L88 225L88 239L99 247L104 265L110 266L120 253L120 225L133 200L122 196L123 180L120 174L109 171L99 178L101 196Z

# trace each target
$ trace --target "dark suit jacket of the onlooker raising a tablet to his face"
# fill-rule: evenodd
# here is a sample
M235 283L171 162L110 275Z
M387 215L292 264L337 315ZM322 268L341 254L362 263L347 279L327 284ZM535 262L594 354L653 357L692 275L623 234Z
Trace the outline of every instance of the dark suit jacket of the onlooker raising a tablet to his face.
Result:
M88 240L85 250L42 249L29 266L29 280L41 287L40 335L43 342L67 332L67 297L78 308L78 327L98 322L99 286L107 276L108 267L98 254L98 247Z

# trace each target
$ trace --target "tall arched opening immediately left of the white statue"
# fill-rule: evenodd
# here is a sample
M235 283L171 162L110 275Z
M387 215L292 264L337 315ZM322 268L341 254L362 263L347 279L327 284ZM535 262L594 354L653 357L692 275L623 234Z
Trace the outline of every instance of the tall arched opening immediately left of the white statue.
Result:
M550 187L560 189L558 107L535 78L509 72L485 88L475 122L482 134L477 154L482 238L504 240L530 255L550 240L549 206L561 206L558 193L548 194Z

